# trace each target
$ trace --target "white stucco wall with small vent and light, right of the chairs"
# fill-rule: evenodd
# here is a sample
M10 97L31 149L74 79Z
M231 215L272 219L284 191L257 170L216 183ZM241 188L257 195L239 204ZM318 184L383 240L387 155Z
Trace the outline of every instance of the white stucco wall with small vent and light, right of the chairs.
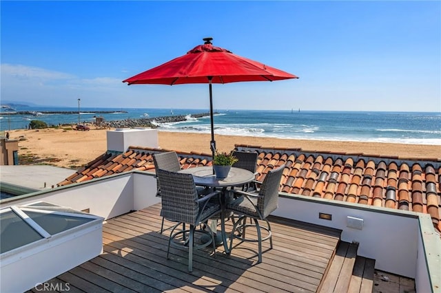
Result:
M319 219L319 213L332 220ZM416 277L419 221L416 213L385 213L384 209L356 204L336 205L326 199L309 200L301 195L280 197L273 213L279 217L342 230L342 241L356 241L358 255L376 259L376 268L410 278ZM364 220L362 230L347 227L347 217Z

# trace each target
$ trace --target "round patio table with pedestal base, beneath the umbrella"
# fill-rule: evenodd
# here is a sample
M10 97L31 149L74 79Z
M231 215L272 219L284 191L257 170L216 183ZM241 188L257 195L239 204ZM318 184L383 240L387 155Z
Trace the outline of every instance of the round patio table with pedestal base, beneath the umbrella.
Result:
M220 233L216 232L216 245L220 245L223 243L225 252L229 253L229 249L227 246L227 235L225 233L225 193L228 187L242 186L243 184L252 182L256 178L254 173L245 169L232 167L232 169L229 170L228 176L226 178L219 179L216 178L216 175L214 175L212 166L184 169L178 171L178 173L192 174L194 183L198 186L222 188L222 193L220 193L220 204L222 208L222 214L220 217L221 231ZM210 228L216 231L217 220L213 220L212 224L213 225L210 225ZM219 235L220 237L218 237Z

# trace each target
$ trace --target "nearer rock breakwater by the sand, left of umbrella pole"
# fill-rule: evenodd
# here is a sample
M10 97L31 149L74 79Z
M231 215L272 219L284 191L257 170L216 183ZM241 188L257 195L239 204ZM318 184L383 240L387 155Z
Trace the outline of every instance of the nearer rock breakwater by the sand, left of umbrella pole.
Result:
M134 128L134 127L157 128L158 124L162 124L162 123L183 122L186 121L189 117L201 118L206 116L209 116L209 113L112 120L112 121L107 121L105 123L107 124L108 127L114 127L114 128Z

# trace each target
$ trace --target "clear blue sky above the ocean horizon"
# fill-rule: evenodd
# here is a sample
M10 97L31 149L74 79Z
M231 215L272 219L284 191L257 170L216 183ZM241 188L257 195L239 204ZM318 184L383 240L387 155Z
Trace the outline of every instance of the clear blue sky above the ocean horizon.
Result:
M208 109L122 80L214 45L299 76L214 85L216 109L441 111L440 1L1 1L1 100Z

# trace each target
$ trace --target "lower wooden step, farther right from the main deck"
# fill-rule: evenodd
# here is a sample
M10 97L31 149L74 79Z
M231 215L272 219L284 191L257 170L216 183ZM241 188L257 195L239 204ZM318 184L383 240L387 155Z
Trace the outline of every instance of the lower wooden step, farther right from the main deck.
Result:
M357 257L353 266L351 284L347 292L351 293L371 293L373 290L373 273L375 259Z

